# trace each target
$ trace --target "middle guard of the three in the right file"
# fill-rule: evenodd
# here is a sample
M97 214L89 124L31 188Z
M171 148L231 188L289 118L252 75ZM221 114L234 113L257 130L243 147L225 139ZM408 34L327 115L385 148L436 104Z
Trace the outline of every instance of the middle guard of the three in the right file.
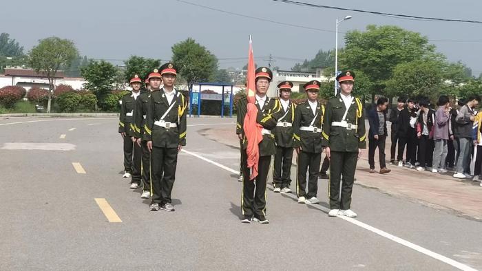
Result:
M296 107L293 130L297 153L296 195L299 204L318 204L318 172L322 160L322 123L325 107L318 102L321 83L317 80L303 85L307 100ZM308 193L306 193L308 171Z

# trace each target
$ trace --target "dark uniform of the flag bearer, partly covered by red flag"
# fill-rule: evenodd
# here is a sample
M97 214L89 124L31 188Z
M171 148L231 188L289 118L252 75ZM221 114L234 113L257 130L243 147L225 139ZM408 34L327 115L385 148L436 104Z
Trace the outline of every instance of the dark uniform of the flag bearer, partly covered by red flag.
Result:
M259 68L258 68L259 69ZM238 124L240 124L237 133L243 135L243 152L242 152L242 169L243 169L243 187L241 209L243 216L254 216L260 220L266 215L266 180L268 178L269 164L271 163L271 155L276 153L275 138L269 130L276 127L277 120L273 114L280 111L280 102L266 96L264 106L260 108L258 101L255 102L258 107L258 116L256 122L264 127L263 139L259 143L260 158L258 164L258 176L255 180L249 180L250 172L247 167L247 140L244 135L244 117L247 114L247 98L242 98L238 105Z

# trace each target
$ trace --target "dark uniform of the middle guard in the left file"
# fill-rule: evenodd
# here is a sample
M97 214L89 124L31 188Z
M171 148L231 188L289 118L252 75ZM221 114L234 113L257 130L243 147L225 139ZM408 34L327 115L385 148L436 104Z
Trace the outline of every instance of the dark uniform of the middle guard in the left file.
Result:
M151 152L147 149L147 141L143 140L145 133L145 120L147 118L147 109L149 108L149 101L151 98L151 91L143 91L136 100L136 107L134 109L134 132L135 138L141 138L140 147L142 149L142 180L143 192L151 191Z

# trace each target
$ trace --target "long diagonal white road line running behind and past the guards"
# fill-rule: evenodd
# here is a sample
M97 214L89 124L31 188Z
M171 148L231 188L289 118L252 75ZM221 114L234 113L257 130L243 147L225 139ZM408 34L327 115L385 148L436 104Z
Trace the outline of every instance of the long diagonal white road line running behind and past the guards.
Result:
M199 158L200 160L204 160L204 161L208 162L209 164L213 164L215 166L218 166L221 169L224 169L224 170L229 171L231 173L239 173L239 171L235 171L234 169L231 169L227 166L219 164L218 162L214 162L213 160L209 160L205 157L202 157L201 155L198 155L197 153L193 153L191 151L186 151L185 149L182 149L181 151L183 151L183 152L185 152L189 155L192 155L196 158ZM320 208L322 210L324 210L326 213L328 213L328 211L329 211L327 208L324 208L324 207L320 207ZM458 268L458 269L464 270L464 271L476 271L476 269L471 268L468 265L465 265L465 264L460 263L458 261L454 261L454 260L452 260L448 257L445 257L441 254L436 253L436 252L433 252L432 250L422 248L421 246L418 246L415 243L411 243L410 241L406 241L405 239L401 239L399 237L396 237L395 235L391 235L388 232L384 232L383 230L379 230L379 229L377 229L373 226L370 226L368 224L364 224L363 222L358 221L357 219L353 219L353 218L350 218L350 217L344 217L344 216L339 216L339 218L344 219L345 221L348 221L351 224L359 226L360 228L364 228L365 230L369 230L370 232L373 232L377 235L380 235L381 237L385 237L386 239L389 239L389 240L392 240L396 243L399 243L402 246L406 246L407 248L411 248L412 250L415 250L415 251L420 252L422 254L426 254L428 257L432 257L433 259L436 259L436 260L441 261L443 263L447 263L448 265L452 265L454 268Z

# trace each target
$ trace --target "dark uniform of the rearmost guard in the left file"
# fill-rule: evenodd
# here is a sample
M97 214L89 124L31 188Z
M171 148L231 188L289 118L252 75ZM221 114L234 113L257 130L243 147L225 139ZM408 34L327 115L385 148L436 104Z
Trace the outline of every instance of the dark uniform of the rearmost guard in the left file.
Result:
M119 133L124 137L124 171L132 173L132 182L140 183L140 147L132 142L134 136L134 107L136 99L132 93L125 94L121 100L121 114L119 116Z

